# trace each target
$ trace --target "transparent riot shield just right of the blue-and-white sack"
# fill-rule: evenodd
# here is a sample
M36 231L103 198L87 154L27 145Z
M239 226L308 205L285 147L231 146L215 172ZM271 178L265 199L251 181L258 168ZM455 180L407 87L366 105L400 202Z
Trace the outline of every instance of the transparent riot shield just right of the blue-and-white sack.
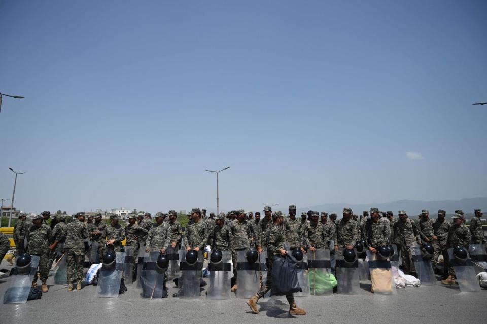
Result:
M96 295L98 297L118 297L120 281L123 278L125 268L125 252L115 252L116 264L114 270L100 268Z

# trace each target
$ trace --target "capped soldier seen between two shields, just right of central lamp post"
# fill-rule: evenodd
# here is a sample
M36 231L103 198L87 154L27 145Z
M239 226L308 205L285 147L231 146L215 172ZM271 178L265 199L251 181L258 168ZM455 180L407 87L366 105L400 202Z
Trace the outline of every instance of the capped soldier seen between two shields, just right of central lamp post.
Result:
M237 254L238 251L249 249L256 246L256 239L254 229L246 219L247 216L243 210L239 210L237 218L230 222L229 228L231 233L231 248L232 248L232 262L233 262L233 277L235 285L232 286L231 291L237 290Z

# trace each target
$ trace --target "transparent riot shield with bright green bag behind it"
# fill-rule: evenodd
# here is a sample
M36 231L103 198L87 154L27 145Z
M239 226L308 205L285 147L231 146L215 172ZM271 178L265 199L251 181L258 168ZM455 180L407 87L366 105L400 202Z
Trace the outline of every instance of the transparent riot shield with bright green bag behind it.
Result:
M308 251L308 282L311 295L333 294L336 279L331 273L330 249Z

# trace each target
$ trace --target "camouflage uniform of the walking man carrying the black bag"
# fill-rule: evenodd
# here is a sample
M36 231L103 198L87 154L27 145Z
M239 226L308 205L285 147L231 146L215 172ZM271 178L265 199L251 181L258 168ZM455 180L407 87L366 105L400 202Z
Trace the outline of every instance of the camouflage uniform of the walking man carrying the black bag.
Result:
M321 223L318 224L323 226ZM257 292L256 296L258 298L262 298L272 286L272 264L274 262L274 257L281 255L279 253L279 249L284 249L285 239L286 233L283 225L272 223L268 227L266 241L264 242L268 253L267 281L265 282L265 285L263 285ZM293 294L286 295L286 299L288 300L289 305L295 305Z

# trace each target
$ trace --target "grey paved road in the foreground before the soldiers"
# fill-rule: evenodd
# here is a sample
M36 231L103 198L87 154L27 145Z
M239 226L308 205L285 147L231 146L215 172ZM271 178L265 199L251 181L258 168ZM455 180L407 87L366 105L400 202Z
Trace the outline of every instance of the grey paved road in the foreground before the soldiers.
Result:
M0 268L10 268L2 261ZM0 279L0 296L8 279ZM48 284L53 282L50 277ZM20 305L0 305L0 324L72 324L72 323L259 323L304 320L306 323L482 323L487 322L487 290L461 293L458 287L442 285L406 288L396 295L371 294L363 282L360 295L333 294L327 297L298 297L304 316L289 316L285 298L261 299L260 313L253 314L245 300L210 301L200 299L147 300L132 287L119 298L97 298L95 287L66 291L67 285L50 286L40 300ZM169 285L170 296L176 292Z

